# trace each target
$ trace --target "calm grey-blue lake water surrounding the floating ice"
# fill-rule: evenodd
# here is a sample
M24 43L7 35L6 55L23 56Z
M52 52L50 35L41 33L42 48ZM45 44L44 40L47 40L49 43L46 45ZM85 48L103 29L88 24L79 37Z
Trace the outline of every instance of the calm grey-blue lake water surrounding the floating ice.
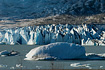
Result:
M55 60L34 61L24 60L25 55L38 45L0 45L0 51L15 50L20 56L0 57L2 69L105 69L105 60ZM85 46L86 53L105 53L105 46ZM66 51L66 50L65 50Z

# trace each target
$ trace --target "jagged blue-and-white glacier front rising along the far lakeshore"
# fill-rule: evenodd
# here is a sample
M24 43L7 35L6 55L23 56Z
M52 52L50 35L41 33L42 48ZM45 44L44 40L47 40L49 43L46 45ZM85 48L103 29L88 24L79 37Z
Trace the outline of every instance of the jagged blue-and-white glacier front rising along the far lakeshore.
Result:
M105 29L100 25L49 24L0 30L0 44L43 45L68 42L104 45Z

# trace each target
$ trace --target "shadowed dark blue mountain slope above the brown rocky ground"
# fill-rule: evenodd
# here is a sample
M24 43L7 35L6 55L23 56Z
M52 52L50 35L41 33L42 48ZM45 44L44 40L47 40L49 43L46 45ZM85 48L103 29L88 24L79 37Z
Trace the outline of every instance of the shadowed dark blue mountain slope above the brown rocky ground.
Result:
M0 15L11 17L9 19L103 12L105 12L105 0L0 0Z

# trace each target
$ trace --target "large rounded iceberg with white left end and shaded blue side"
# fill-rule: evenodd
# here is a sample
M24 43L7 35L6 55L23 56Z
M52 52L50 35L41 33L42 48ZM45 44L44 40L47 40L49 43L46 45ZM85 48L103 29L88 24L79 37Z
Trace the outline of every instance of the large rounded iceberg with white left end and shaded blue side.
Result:
M51 43L32 49L27 55L27 60L66 60L85 58L85 48L65 42Z

